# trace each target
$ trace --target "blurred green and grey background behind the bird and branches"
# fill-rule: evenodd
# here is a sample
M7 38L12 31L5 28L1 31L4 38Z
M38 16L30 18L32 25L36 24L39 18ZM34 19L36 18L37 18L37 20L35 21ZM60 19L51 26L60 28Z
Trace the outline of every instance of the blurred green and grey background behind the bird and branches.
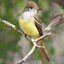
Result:
M18 25L18 18L28 0L0 0L0 18ZM63 14L63 0L33 0L42 11L39 16L44 28L57 14ZM61 6L59 2L62 1ZM59 4L59 5L58 5ZM45 46L50 58L49 64L64 64L64 24L52 30L52 35L45 39ZM15 64L21 60L31 49L30 43L22 34L0 23L0 64ZM25 64L48 64L43 60L41 52L37 49Z

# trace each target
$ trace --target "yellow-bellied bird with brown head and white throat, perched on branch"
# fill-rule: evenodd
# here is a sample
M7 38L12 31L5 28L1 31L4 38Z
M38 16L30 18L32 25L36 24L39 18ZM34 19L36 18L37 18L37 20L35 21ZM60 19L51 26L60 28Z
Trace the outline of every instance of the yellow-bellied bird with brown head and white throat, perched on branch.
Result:
M42 25L37 16L40 8L34 1L28 1L22 15L19 18L19 25L23 32L34 39L43 35ZM39 46L44 46L44 40L37 43ZM41 48L43 57L49 61L45 48Z

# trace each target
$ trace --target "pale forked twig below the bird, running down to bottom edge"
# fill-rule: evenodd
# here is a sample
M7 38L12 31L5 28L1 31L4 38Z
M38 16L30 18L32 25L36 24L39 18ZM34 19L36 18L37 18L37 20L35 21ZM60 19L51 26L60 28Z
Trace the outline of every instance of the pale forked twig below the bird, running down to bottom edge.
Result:
M22 64L24 61L26 61L26 59L35 51L36 48L44 48L44 46L39 46L36 44L36 42L40 41L41 39L49 36L51 33L47 33L43 36L41 36L40 38L37 38L36 40L35 39L31 39L32 43L33 43L33 47L32 49L30 50L30 52L22 59L20 60L17 64Z

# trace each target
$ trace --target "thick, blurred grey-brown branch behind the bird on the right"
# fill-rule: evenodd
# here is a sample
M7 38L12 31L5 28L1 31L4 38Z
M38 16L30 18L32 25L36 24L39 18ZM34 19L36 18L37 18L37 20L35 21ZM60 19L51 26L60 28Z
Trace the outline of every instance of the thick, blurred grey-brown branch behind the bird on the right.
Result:
M58 26L59 24L64 23L64 14L59 14L55 16L51 21L50 24L44 29L44 31L51 31L54 27Z

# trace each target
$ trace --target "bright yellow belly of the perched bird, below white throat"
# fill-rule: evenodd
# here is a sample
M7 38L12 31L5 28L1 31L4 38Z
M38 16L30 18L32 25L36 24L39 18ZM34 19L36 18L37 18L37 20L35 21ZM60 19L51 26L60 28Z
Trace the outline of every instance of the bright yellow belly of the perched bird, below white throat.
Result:
M34 24L34 18L31 18L29 20L24 20L22 18L19 19L19 25L20 28L29 36L38 37L39 32Z

